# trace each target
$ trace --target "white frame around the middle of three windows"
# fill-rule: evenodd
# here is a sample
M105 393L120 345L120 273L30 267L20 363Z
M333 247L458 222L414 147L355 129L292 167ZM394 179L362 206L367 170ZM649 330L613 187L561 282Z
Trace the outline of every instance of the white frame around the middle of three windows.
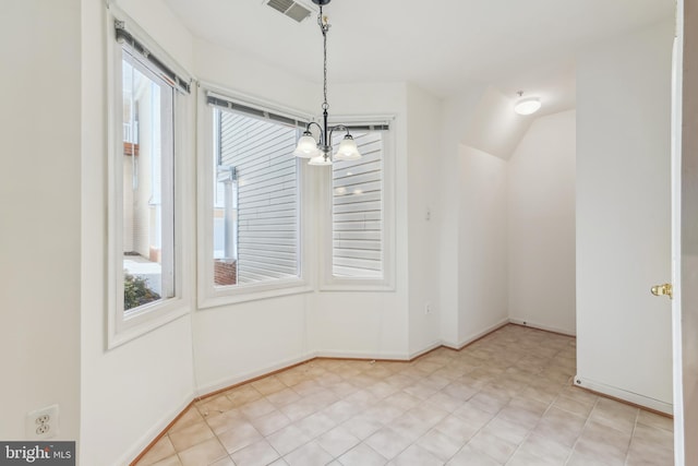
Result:
M207 103L208 95L219 96L222 99L277 115L289 116L297 121L308 121L308 117L301 116L292 110L284 109L274 104L253 99L249 96L241 96L238 93L220 89L218 87L204 84L198 92L197 106L197 306L200 310L234 304L239 302L253 301L258 299L275 298L280 296L309 292L313 290L312 277L308 273L310 263L309 250L312 241L310 219L309 219L309 195L312 188L310 186L308 167L302 160L297 160L299 170L299 276L281 278L269 282L253 284L237 284L230 286L216 286L214 283L214 106ZM300 130L300 128L299 128ZM302 130L301 130L302 131ZM300 132L299 135L300 136ZM289 157L292 154L289 153Z

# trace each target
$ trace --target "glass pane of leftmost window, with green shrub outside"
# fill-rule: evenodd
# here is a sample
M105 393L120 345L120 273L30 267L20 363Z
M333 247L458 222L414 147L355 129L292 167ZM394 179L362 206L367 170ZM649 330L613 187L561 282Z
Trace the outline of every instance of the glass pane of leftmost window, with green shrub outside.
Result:
M124 311L174 296L173 89L123 50Z

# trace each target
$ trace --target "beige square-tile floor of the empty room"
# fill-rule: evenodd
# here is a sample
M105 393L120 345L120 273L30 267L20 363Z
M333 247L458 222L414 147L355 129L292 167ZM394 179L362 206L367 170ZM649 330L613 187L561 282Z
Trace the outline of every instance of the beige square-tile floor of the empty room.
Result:
M314 360L197 402L139 466L672 465L671 419L571 386L575 351L507 325L412 362Z

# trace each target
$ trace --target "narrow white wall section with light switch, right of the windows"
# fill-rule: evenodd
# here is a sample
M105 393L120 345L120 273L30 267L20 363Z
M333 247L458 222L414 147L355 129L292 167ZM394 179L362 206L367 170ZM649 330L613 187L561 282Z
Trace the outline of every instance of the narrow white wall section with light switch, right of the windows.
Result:
M441 101L417 86L407 88L409 350L410 355L441 344L438 210L441 190L437 134ZM426 314L429 303L431 312Z

